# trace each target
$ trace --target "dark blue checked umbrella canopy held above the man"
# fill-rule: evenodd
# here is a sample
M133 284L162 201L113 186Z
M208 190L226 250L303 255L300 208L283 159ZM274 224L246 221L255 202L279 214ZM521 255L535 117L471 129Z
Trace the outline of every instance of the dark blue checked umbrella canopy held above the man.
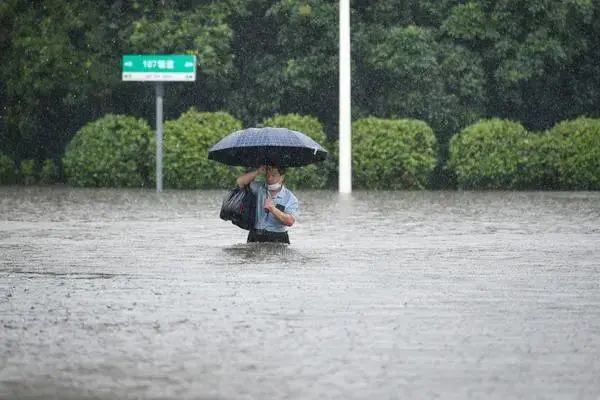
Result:
M324 161L325 150L305 134L287 128L248 128L233 132L208 150L208 159L226 165L302 167Z

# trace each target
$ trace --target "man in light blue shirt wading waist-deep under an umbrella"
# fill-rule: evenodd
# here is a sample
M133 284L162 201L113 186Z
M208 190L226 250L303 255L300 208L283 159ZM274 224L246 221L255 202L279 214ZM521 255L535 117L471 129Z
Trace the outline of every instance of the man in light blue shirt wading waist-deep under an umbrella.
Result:
M265 174L265 181L255 182ZM298 199L283 186L285 169L273 165L262 166L237 178L237 185L256 195L256 221L248 233L248 242L290 243L288 227L296 222Z

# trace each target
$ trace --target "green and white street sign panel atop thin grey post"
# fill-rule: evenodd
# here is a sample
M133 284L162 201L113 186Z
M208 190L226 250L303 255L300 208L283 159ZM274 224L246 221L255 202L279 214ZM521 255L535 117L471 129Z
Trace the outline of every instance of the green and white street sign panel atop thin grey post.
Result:
M124 81L193 82L196 56L184 54L126 54L122 60Z

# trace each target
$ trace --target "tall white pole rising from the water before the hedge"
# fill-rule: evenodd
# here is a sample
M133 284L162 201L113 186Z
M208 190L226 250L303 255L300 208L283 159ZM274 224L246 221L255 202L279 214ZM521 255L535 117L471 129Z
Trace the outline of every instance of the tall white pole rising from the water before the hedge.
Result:
M350 70L350 0L340 0L339 191L352 192L352 114Z

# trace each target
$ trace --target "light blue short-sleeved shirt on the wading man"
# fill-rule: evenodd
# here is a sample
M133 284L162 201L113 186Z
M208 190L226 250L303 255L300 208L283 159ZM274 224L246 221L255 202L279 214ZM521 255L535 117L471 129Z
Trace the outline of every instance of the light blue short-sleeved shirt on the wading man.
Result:
M265 200L269 197L267 184L264 181L252 181L250 190L256 195L256 223L255 229L265 229L270 232L285 232L287 226L283 225L272 213L265 210ZM283 206L283 212L296 218L298 215L298 199L285 185L272 199L275 205ZM281 209L281 207L280 207Z

